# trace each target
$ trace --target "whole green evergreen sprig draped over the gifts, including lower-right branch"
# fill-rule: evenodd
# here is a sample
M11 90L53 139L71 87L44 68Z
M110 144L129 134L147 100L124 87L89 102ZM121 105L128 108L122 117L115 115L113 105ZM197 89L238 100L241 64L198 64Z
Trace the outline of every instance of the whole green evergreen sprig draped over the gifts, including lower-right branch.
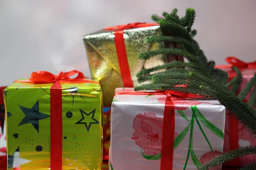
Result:
M188 8L186 16L180 19L177 16L176 8L170 14L163 12L163 17L153 15L151 18L159 23L163 30L171 33L171 36L148 37L148 43L175 42L178 44L178 48L143 52L139 55L139 58L147 60L158 54L175 54L187 58L189 62L176 61L140 71L137 74L139 82L152 80L152 83L136 87L135 90L180 91L216 99L232 111L238 117L239 122L246 124L250 133L256 134L256 111L253 109L256 104L256 75L237 97L236 94L242 81L241 72L238 68L233 67L236 77L228 82L227 73L216 69L214 61L207 61L207 57L200 49L198 42L193 39L196 34L195 30L191 31L195 20L194 9ZM245 103L243 99L253 88L249 102ZM207 170L238 156L254 153L256 153L256 146L242 147L215 157L199 169ZM253 162L241 168L241 170L254 170L255 166L256 163Z

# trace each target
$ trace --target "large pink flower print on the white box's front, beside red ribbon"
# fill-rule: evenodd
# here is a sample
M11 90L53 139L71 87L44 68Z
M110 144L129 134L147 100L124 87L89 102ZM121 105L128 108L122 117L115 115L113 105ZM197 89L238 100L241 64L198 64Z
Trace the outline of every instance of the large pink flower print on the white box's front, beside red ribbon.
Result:
M162 148L163 118L157 118L155 113L138 114L134 118L135 129L131 139L143 148L147 155L157 155ZM178 134L175 132L175 138Z

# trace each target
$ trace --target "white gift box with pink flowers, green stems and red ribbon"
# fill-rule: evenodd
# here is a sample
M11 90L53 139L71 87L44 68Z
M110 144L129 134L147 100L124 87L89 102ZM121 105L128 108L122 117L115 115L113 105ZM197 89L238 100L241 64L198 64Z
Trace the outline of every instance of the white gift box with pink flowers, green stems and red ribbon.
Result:
M110 169L195 170L222 153L224 124L225 107L217 100L118 88L111 107Z

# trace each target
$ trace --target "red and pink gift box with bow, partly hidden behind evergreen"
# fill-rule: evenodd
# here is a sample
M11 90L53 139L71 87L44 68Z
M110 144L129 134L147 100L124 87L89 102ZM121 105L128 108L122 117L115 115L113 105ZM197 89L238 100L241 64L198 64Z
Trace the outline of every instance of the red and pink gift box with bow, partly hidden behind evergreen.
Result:
M227 57L226 61L230 65L218 65L216 68L220 68L227 71L229 75L229 80L231 81L233 77L236 77L236 73L231 69L232 66L236 66L240 69L242 74L242 82L239 91L245 87L245 85L253 78L256 73L256 62L243 62L236 57ZM245 97L245 102L250 99L252 91ZM238 118L234 116L233 113L227 111L226 115L226 125L225 125L225 136L224 136L224 152L229 150L235 150L239 147L253 146L256 145L256 139L253 134L249 133L244 124L239 123ZM247 155L239 157L232 161L225 163L225 165L242 167L256 160L256 155Z

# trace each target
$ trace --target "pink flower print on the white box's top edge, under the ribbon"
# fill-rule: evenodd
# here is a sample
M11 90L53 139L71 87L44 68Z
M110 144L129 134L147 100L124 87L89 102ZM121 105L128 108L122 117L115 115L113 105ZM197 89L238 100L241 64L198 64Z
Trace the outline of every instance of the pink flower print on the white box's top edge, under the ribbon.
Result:
M172 96L174 102L175 102L175 109L177 109L178 111L184 111L187 108L189 108L189 106L195 106L195 105L201 105L202 103L207 103L207 102L199 102L196 100L187 100L184 98L177 98ZM166 97L161 97L157 99L158 102L165 104L166 102Z

